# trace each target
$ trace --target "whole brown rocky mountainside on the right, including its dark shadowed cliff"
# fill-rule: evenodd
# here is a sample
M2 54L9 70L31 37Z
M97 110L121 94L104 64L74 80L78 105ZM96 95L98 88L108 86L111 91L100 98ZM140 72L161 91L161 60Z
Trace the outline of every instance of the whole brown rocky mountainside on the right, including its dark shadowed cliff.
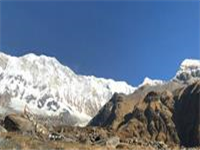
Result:
M115 94L89 125L146 141L200 145L200 81L169 87L143 87L129 96Z

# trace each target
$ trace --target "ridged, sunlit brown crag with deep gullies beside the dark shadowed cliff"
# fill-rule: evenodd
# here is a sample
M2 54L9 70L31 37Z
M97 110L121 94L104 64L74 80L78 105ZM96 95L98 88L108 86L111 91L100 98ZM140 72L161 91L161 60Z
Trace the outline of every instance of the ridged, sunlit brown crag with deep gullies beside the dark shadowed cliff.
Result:
M178 144L179 138L172 120L172 112L170 107L161 101L161 97L165 101L165 93L169 91L149 92L141 103L134 106L132 113L124 117L118 131L146 140ZM172 104L168 102L168 105Z

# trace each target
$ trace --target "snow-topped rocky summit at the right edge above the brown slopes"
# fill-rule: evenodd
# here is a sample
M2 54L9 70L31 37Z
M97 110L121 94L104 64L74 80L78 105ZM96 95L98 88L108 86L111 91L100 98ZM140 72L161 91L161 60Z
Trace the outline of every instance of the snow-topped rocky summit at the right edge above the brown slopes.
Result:
M200 80L200 60L185 59L181 63L174 80L182 83L191 83Z

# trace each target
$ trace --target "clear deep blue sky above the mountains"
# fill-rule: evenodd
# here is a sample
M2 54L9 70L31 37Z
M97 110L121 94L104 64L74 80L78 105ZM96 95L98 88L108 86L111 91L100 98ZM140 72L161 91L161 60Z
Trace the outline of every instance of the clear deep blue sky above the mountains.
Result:
M0 50L56 57L79 74L138 85L200 59L199 0L0 0Z

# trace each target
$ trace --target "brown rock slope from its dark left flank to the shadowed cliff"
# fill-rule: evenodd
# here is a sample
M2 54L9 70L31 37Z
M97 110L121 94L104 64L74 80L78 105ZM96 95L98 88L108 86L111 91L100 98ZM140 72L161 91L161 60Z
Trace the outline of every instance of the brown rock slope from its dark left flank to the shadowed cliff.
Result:
M150 91L143 97L115 94L90 125L111 127L124 138L179 143L173 104L173 94L166 90Z

